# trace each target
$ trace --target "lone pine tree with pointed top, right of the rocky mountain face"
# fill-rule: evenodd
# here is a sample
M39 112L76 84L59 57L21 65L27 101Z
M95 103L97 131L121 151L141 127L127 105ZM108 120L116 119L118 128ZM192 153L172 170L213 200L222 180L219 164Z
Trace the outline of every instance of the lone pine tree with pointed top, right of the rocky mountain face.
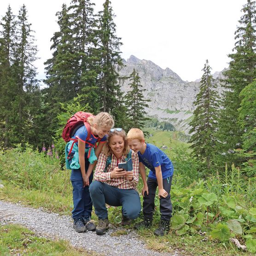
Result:
M192 128L189 131L192 134L190 142L192 143L193 154L199 161L206 163L207 169L210 169L216 150L215 134L219 110L216 84L210 70L208 60L206 60L203 69L204 74L200 82L200 91L194 101L196 109L190 122Z

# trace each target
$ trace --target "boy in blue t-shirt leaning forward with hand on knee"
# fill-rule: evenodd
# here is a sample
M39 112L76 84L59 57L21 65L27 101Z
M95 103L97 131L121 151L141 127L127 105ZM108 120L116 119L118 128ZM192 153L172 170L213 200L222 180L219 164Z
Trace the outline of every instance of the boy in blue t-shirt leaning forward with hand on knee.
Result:
M170 190L174 170L173 164L163 151L155 145L145 143L144 134L140 129L130 129L127 134L127 140L130 148L139 155L140 174L144 184L142 189L144 220L136 224L134 228L139 229L140 227L151 226L158 186L161 221L154 233L158 236L163 236L169 233L170 218L172 216ZM150 169L147 181L145 166Z

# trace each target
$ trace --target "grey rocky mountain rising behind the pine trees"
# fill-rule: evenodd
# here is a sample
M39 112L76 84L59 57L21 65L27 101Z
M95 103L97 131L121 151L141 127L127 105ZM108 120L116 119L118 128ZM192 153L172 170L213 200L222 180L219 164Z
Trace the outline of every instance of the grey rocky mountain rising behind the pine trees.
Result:
M159 120L169 121L175 125L177 130L188 131L188 122L195 109L193 101L199 92L200 79L197 81L183 81L175 72L166 68L163 70L150 60L139 59L131 55L123 60L125 67L119 71L120 76L128 76L133 69L139 73L140 82L146 89L145 99L150 99L150 108L147 109L149 116L157 117ZM217 91L221 93L220 79L223 78L222 71L213 75L218 84ZM129 90L130 81L124 81L122 91Z

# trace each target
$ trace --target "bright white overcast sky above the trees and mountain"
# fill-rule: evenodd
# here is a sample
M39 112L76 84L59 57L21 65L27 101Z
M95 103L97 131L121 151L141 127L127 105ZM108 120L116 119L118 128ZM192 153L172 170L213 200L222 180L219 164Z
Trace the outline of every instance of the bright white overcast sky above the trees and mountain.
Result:
M35 30L38 78L45 77L44 62L51 58L50 38L58 31L56 12L64 0L0 0L2 18L10 4L18 14L25 4ZM92 0L95 11L105 0ZM116 35L121 37L122 58L134 55L169 67L184 81L202 76L208 58L212 73L228 66L227 54L234 47L234 32L247 0L112 0Z

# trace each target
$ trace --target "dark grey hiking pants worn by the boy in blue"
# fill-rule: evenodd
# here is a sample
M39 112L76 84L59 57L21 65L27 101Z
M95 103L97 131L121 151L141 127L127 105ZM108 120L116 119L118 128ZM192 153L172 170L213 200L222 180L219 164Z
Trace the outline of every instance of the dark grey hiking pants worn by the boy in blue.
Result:
M172 216L172 202L170 196L172 183L172 176L166 179L163 179L163 188L168 193L166 198L160 198L160 214L161 220L170 221ZM147 179L148 186L148 195L145 192L144 200L143 200L143 215L149 219L153 217L154 209L155 209L155 196L157 190L157 180L148 178Z

